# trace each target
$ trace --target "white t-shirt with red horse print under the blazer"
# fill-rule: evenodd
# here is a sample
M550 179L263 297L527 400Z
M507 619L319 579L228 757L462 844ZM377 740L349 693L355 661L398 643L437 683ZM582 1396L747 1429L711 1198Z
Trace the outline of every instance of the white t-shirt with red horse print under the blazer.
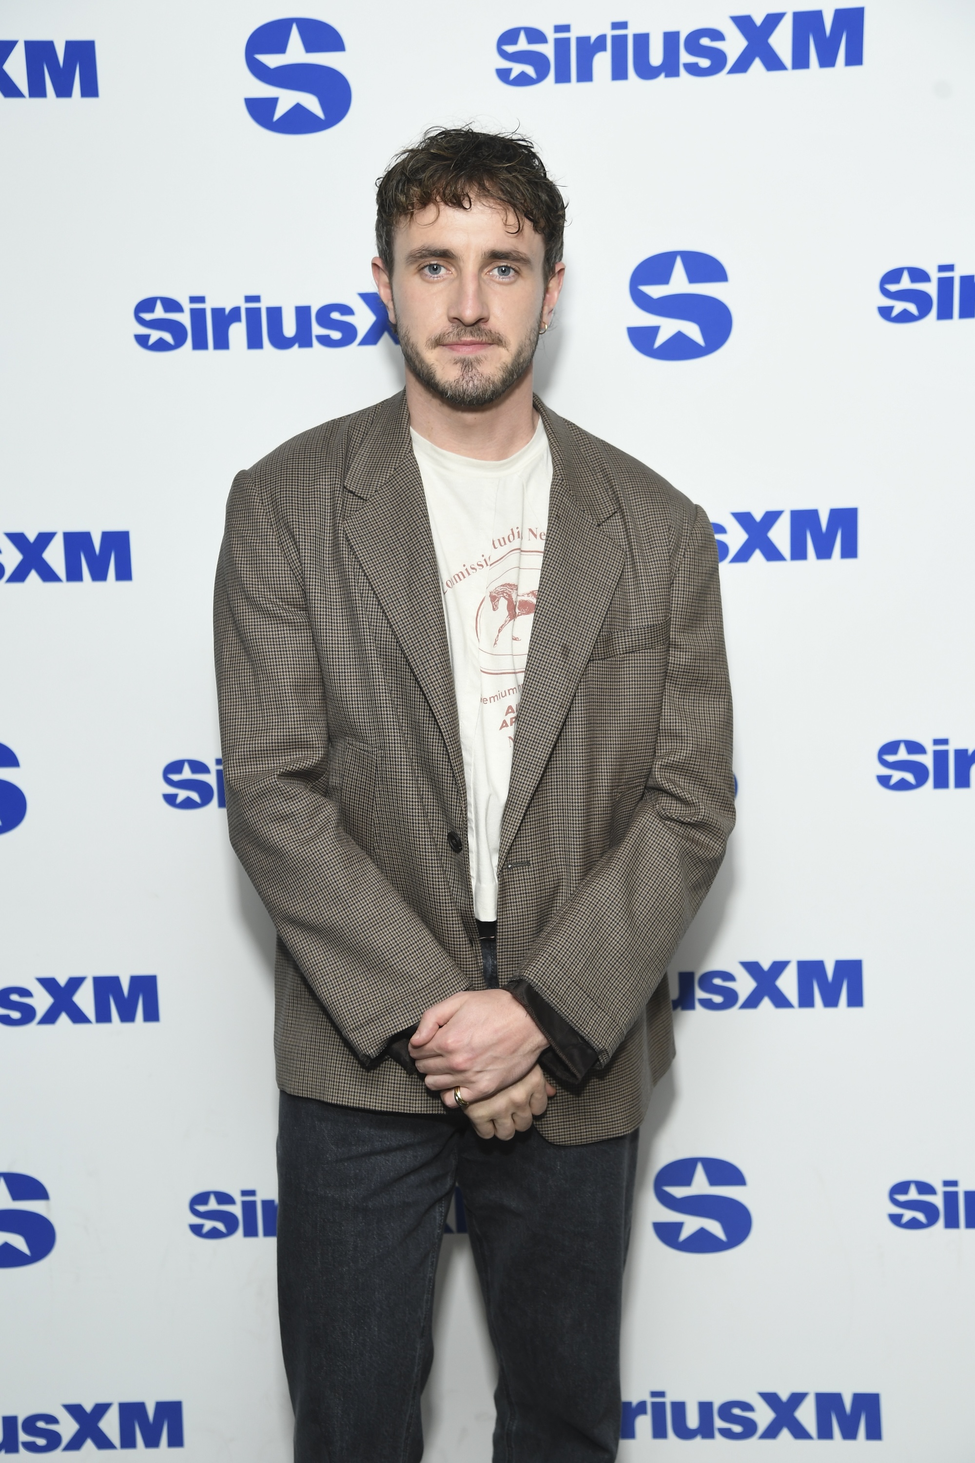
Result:
M548 527L542 423L501 462L444 452L411 430L440 571L468 791L478 919L497 919L497 853Z

